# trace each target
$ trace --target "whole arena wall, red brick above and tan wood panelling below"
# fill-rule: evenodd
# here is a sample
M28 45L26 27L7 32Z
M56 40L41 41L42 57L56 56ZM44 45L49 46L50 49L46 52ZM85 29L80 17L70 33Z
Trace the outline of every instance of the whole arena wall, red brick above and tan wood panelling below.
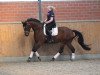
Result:
M61 1L43 2L42 14L46 18L47 6L56 7L56 21L58 26L66 26L83 33L86 43L91 44L92 50L84 51L74 40L73 45L77 54L100 54L100 1ZM20 23L27 18L38 18L37 2L0 2L0 56L27 56L34 44L34 32L29 37L24 36ZM72 22L75 20L82 20ZM88 22L86 22L89 20ZM93 20L93 21L92 21ZM67 22L70 21L70 22ZM8 23L9 22L9 23ZM59 48L56 45L44 45L39 49L40 55L54 55ZM66 47L64 54L69 54Z

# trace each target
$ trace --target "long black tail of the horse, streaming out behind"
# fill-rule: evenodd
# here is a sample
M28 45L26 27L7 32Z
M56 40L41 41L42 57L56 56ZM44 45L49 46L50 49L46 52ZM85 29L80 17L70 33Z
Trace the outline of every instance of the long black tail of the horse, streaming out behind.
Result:
M85 50L91 50L89 45L84 44L84 38L83 38L82 33L77 30L73 30L73 32L75 33L75 37L76 36L78 37L78 43L82 46L82 48Z

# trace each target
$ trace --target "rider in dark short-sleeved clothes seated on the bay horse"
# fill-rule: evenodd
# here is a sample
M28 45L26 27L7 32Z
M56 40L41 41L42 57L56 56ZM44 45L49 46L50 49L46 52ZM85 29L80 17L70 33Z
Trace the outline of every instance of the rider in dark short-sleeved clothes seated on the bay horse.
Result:
M46 32L47 35L49 36L48 40L49 42L52 42L52 33L50 32L52 30L52 28L56 27L56 23L55 23L55 14L54 14L54 9L55 7L53 6L48 6L48 13L47 13L47 19L44 21L44 23L46 24Z

